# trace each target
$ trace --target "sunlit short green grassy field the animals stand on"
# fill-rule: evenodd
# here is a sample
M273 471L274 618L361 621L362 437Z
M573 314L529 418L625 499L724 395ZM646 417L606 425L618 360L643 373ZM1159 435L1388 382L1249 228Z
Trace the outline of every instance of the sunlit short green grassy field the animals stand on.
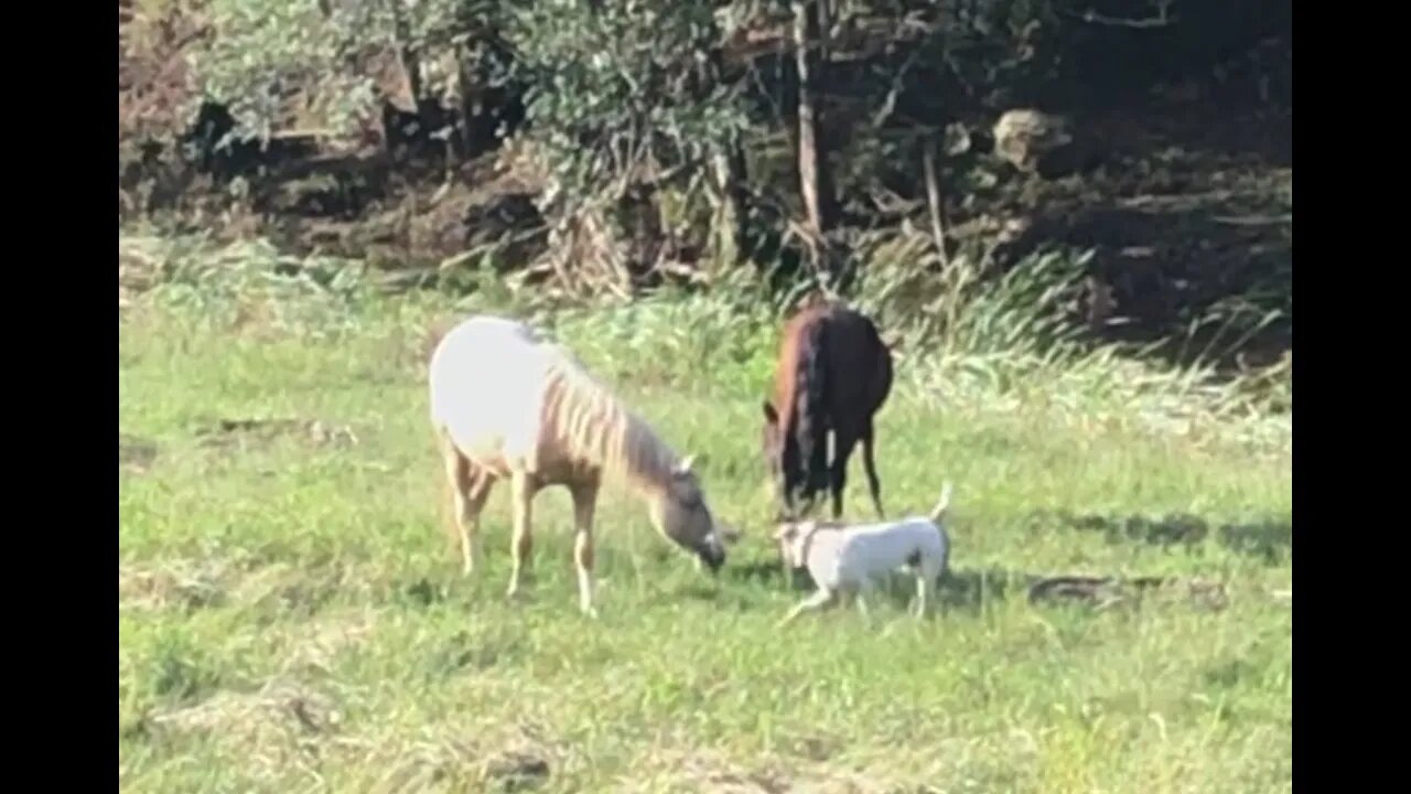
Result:
M923 389L903 359L879 418L883 499L921 510L955 483L944 605L919 624L899 595L871 622L834 610L780 632L803 593L766 541L768 329L672 311L687 309L557 333L701 456L745 537L711 581L605 492L598 622L576 609L560 490L536 504L525 603L502 595L504 489L487 567L460 576L426 418L432 309L361 308L336 332L130 311L119 787L1292 788L1291 431L1254 444L1233 420L1153 421L1058 380ZM848 511L869 514L856 461ZM1177 581L1030 602L1058 574Z

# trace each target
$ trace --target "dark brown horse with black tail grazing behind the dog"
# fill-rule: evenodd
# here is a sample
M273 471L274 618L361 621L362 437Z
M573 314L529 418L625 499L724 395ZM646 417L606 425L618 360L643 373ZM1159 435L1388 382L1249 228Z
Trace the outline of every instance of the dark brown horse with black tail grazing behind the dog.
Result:
M816 494L830 489L832 517L841 517L848 458L861 441L872 506L882 517L872 418L890 391L892 352L865 315L823 302L804 308L785 325L761 445L786 516L797 514L796 496L803 497L807 513Z

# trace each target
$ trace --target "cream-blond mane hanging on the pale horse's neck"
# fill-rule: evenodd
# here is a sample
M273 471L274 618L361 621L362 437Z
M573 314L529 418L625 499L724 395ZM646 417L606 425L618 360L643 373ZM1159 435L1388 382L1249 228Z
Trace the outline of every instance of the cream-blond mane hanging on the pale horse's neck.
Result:
M543 411L563 452L635 489L663 487L679 462L676 452L581 362L563 348L557 350L547 370Z

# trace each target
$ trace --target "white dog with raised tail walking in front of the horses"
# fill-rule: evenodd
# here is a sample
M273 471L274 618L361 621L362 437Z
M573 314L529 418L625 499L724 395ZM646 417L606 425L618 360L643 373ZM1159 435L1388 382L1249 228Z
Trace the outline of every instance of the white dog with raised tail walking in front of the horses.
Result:
M872 592L875 578L903 565L916 574L916 615L924 615L931 588L950 561L951 543L944 526L950 503L951 483L945 483L928 516L852 526L814 520L782 524L775 540L785 565L807 567L818 591L794 606L779 624L790 623L806 610L821 609L842 593L852 593L858 609L866 615L864 595Z

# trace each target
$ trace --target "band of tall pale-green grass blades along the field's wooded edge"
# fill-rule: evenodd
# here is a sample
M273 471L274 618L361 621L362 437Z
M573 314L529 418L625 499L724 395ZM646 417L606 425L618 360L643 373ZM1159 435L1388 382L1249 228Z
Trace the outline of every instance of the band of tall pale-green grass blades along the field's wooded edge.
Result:
M903 362L899 381L944 408L1043 407L1061 421L1123 421L1160 432L1284 448L1292 434L1291 359L1243 377L1213 367L1157 363L1132 345L1084 340L1077 311L1088 254L1038 251L1002 274L962 253L940 267L920 235L879 236L848 300L876 318ZM737 268L686 300L663 288L631 302L546 300L484 274L468 295L406 292L382 300L361 263L279 254L268 243L213 246L199 239L124 237L120 260L151 275L147 300L203 324L261 324L288 333L337 335L368 312L399 314L408 329L432 316L512 312L567 335L600 366L662 381L763 389L776 333L800 294L770 292ZM645 365L645 366L643 366Z

